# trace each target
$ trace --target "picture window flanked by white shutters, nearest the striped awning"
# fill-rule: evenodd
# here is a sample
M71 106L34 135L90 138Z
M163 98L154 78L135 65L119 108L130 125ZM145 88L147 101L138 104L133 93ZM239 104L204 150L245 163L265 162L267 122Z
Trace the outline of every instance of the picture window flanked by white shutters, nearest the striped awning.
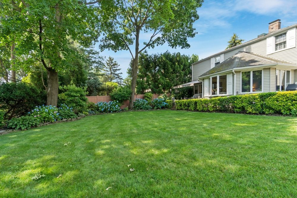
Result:
M227 94L227 75L211 77L211 95Z

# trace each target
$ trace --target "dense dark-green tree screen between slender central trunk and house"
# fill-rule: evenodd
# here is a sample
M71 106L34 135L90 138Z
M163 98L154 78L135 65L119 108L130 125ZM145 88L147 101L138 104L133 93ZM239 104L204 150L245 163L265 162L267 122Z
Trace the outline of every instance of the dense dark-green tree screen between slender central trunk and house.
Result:
M162 94L176 85L192 80L192 63L198 61L197 55L165 52L149 55L146 51L139 56L139 70L136 93L151 91ZM131 74L131 69L128 70Z

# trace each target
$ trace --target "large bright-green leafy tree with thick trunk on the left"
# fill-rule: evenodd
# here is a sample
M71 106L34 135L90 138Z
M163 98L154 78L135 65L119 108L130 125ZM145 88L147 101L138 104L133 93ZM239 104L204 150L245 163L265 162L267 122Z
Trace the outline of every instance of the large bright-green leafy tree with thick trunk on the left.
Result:
M69 39L91 45L98 38L99 1L85 0L2 0L0 42L15 43L13 55L26 56L21 64L30 67L40 61L48 75L47 104L57 105L58 72L72 67L76 53ZM11 13L14 13L13 15ZM28 68L27 68L28 69Z

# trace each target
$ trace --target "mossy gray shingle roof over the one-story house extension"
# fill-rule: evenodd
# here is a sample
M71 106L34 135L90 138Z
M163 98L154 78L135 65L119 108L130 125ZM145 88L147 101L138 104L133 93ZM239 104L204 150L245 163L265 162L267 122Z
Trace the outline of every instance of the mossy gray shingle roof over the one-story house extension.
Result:
M228 58L227 60L218 64L214 68L208 70L207 72L200 75L199 77L214 74L217 72L223 72L223 71L227 71L227 70L231 70L239 67L249 67L249 66L258 66L258 65L260 66L260 65L279 64L279 63L292 64L286 61L269 58L267 56L261 56L254 53L239 51L234 56Z

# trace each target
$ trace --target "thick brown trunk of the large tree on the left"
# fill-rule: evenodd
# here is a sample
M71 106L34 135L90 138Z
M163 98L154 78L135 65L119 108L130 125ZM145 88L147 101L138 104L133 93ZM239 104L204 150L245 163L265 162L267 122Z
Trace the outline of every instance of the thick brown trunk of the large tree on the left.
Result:
M46 105L57 106L59 79L58 72L52 68L48 68L48 90L46 92Z

